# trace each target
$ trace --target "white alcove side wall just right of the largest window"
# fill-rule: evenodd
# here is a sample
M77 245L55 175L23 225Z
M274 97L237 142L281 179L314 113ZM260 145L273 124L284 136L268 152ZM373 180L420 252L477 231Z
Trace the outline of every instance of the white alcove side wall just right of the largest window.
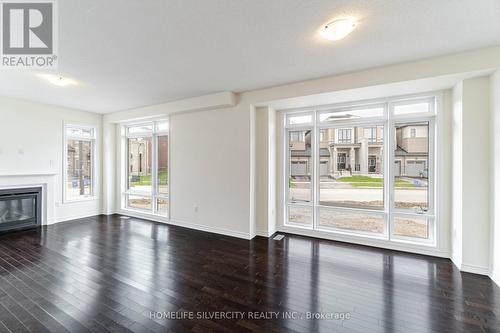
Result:
M490 272L490 77L454 89L452 259L464 271Z

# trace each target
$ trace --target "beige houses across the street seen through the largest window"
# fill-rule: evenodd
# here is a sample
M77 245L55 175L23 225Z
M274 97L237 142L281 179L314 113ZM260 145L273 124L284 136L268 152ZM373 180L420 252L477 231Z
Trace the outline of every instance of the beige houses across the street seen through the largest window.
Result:
M329 128L320 131L320 176L383 173L383 126ZM395 175L427 177L428 125L396 128ZM312 168L310 131L290 131L290 175L309 177Z

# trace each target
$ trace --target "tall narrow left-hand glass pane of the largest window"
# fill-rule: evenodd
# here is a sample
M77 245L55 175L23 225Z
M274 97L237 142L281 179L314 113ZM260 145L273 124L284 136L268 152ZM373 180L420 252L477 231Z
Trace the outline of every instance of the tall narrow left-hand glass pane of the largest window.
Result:
M311 201L311 131L289 131L288 198L289 201Z

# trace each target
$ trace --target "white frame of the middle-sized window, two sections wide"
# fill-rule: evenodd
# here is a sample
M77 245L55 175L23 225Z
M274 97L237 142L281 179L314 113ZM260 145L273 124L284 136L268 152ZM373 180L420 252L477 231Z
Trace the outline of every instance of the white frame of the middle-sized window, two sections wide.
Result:
M159 129L159 124L160 123L167 123L167 128L164 130ZM152 125L152 130L151 131L143 131L143 132L137 132L137 133L130 133L129 128L130 127L136 127L136 126L147 126L147 125ZM158 178L159 178L159 171L158 171L158 138L160 136L167 136L168 138L168 145L167 145L167 168L168 168L168 178L167 178L167 186L168 186L168 194L165 193L160 193L158 190ZM144 192L140 190L133 190L129 188L129 172L130 172L130 151L129 151L129 139L133 138L151 138L151 192ZM170 160L171 160L171 153L170 153L170 118L163 117L160 119L155 119L151 120L148 122L131 122L131 123L126 123L122 125L122 142L124 145L124 149L122 150L123 154L125 155L125 158L122 158L122 161L124 162L124 180L123 180L123 186L121 189L122 192L122 203L121 203L121 209L123 210L128 210L131 212L135 213L142 213L142 214L148 214L148 215L153 215L153 216L159 216L161 218L165 218L167 220L170 220L171 216L171 205L170 205L170 177L171 177L171 172L170 172ZM130 207L128 204L128 199L129 196L140 196L140 197L145 197L145 198L150 198L151 199L151 209L140 209L140 208L135 208L135 207ZM161 214L158 211L158 200L166 200L167 205L168 205L168 211L167 214Z

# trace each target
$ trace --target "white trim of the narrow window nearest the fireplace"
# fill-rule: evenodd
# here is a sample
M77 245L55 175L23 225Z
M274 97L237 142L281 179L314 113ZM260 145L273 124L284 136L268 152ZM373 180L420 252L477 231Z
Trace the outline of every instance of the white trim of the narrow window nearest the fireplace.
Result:
M79 127L79 128L86 128L86 129L92 129L94 136L92 138L86 138L86 137L80 137L80 136L71 136L67 135L66 129L69 127ZM78 203L78 202L83 202L83 201L95 201L98 200L99 197L96 195L96 154L97 154L97 143L98 143L98 138L99 138L99 133L97 131L97 127L94 125L89 125L89 124L84 124L84 123L78 123L78 122L69 122L69 121L64 121L63 122L63 204L71 204L71 203ZM80 196L78 198L74 199L68 199L66 198L66 186L67 186L67 181L68 181L68 140L80 140L80 141L89 141L92 144L92 154L90 156L90 164L91 164L91 190L92 194L91 195L86 195L86 196Z

